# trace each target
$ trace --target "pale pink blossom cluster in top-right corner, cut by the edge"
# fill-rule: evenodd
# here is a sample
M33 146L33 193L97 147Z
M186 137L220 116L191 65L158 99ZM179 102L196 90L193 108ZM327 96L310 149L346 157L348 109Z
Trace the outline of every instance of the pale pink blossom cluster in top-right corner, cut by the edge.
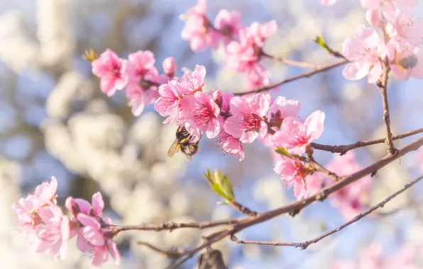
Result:
M373 84L389 68L398 80L423 79L423 20L414 19L410 10L417 0L361 0L361 4L368 8L366 19L371 27L359 25L356 35L343 43L342 54L351 61L344 77L368 76L368 83ZM375 28L381 29L383 38Z

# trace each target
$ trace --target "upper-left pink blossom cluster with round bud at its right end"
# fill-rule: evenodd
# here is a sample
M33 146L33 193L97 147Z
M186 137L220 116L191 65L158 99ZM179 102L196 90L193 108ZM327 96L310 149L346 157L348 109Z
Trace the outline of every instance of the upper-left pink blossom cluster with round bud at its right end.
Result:
M131 53L128 59L106 50L92 62L92 73L101 79L101 91L109 97L125 89L133 115L139 116L145 105L157 100L158 86L175 75L176 64L172 57L163 61L165 74L159 74L154 64L153 52L148 50Z

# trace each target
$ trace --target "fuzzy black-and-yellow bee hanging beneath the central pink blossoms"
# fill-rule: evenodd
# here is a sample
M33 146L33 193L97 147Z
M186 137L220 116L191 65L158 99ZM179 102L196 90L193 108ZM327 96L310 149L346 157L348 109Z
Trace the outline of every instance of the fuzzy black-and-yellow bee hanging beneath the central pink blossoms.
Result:
M167 151L167 156L172 157L178 151L181 151L189 161L192 160L192 155L197 154L199 150L199 140L195 143L189 142L192 139L192 135L189 134L184 125L177 127L176 130L176 139L170 145L169 151Z

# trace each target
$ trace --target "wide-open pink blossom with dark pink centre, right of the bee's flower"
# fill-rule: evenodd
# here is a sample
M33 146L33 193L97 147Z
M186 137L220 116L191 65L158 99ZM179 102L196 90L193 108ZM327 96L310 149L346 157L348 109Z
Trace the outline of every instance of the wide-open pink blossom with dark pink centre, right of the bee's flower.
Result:
M243 143L251 143L259 135L263 138L268 132L265 115L268 114L270 101L270 95L263 93L232 98L230 107L233 116L226 120L225 132Z

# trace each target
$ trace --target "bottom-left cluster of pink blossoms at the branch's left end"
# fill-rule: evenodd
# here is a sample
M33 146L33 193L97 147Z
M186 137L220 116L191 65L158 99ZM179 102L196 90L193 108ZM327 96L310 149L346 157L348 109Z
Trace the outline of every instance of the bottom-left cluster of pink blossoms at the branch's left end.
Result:
M12 205L17 214L18 230L28 244L38 253L53 256L56 261L63 260L67 241L77 235L79 250L94 253L92 265L106 262L108 253L119 264L120 254L112 240L116 232L107 227L111 219L101 217L104 208L101 193L92 196L91 204L82 199L67 198L65 207L73 216L69 219L57 205L56 190L57 180L52 177L50 183L43 182L35 188L34 194Z

